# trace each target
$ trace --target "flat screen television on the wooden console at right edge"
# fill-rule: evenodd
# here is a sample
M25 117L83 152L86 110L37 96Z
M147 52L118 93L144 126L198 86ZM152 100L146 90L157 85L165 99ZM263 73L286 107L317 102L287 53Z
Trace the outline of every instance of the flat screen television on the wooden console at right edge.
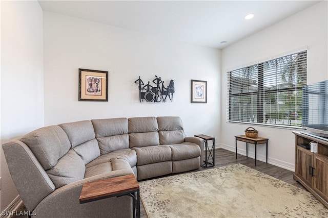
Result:
M328 140L328 80L303 86L302 127L303 134Z

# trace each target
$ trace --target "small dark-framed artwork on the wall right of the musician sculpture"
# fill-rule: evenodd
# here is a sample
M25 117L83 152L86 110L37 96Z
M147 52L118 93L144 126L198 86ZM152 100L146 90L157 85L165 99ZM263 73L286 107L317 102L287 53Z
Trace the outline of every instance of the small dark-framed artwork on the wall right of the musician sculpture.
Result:
M207 81L191 80L191 103L207 103Z

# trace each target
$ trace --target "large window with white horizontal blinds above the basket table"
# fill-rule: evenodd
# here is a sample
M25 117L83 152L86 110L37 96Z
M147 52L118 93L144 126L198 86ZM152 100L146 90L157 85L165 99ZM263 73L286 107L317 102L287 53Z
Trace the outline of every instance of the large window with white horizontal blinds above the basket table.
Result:
M228 122L302 126L307 51L227 72Z

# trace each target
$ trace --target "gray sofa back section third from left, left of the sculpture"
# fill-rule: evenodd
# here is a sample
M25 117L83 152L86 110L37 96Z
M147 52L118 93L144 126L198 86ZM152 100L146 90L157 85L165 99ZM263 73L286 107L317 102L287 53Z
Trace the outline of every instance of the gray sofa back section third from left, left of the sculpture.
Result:
M127 118L92 119L91 122L101 155L129 148Z

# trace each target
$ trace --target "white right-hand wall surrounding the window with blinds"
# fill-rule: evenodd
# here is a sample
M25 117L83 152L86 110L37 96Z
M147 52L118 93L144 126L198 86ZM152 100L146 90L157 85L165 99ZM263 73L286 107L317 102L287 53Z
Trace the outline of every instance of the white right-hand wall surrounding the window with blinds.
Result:
M327 2L320 2L222 50L221 143L235 151L235 135L244 134L250 125L227 123L226 72L270 60L279 54L308 46L308 84L328 79ZM256 19L256 17L254 18ZM269 138L268 162L294 170L294 134L292 129L254 126L259 135ZM254 146L249 146L254 157ZM258 146L258 158L265 160L265 146ZM240 150L240 151L239 151ZM245 143L238 142L245 154Z

